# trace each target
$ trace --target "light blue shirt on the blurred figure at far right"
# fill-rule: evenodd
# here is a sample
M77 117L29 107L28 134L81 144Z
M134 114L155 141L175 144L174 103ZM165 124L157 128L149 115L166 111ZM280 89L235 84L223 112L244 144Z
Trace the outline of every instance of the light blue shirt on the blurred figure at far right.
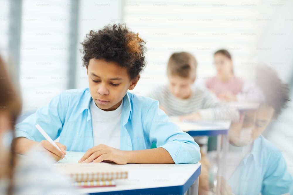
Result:
M280 149L260 135L228 180L234 194L293 194L292 176Z

